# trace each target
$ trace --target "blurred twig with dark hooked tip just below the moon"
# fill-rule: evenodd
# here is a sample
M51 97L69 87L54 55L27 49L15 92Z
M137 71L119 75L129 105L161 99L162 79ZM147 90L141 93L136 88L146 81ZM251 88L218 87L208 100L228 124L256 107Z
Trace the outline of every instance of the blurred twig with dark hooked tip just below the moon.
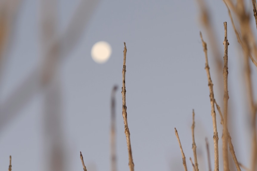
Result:
M112 171L117 170L116 164L116 118L115 118L115 92L117 86L114 86L112 89L112 99L111 99L111 167Z

